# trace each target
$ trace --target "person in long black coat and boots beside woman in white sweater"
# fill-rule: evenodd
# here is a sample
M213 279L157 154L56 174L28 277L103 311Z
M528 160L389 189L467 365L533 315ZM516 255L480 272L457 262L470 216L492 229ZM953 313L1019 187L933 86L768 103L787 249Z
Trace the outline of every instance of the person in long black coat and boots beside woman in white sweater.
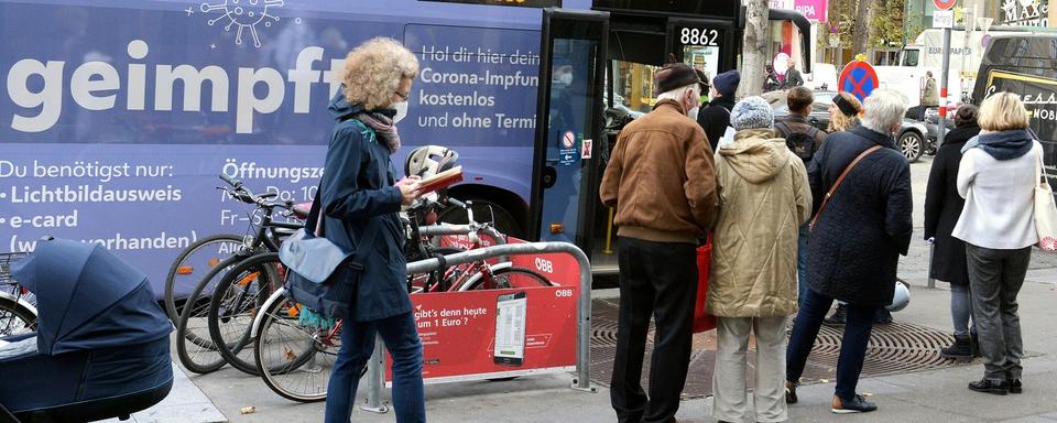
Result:
M947 358L971 358L976 346L976 329L969 329L972 299L969 296L969 268L966 264L966 243L951 236L961 216L966 200L958 195L958 166L961 148L980 133L978 109L966 105L955 113L955 129L944 138L928 174L925 192L925 240L933 243L929 278L950 283L950 316L955 327L955 343L942 348Z

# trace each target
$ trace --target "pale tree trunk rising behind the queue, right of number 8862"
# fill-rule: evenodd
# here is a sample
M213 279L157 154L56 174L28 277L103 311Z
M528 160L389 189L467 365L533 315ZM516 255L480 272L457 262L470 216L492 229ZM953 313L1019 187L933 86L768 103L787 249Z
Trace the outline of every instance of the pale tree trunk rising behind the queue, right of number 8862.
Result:
M741 47L741 85L738 97L759 96L763 93L765 75L763 66L770 61L766 56L771 21L767 0L749 0L745 8L745 39Z

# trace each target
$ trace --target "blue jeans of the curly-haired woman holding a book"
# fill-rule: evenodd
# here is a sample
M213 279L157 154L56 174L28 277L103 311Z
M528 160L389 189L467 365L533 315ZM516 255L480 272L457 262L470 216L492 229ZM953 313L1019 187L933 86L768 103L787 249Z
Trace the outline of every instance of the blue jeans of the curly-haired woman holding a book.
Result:
M345 322L341 350L327 386L326 423L349 423L360 371L374 351L374 334L382 336L393 357L393 408L399 423L426 421L422 388L422 341L411 313L371 322Z

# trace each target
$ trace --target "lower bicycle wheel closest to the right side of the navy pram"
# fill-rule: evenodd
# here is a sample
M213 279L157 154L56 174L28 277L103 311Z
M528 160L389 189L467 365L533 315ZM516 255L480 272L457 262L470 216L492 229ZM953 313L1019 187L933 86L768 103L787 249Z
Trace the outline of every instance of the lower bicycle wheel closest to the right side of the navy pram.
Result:
M209 337L209 301L220 278L242 260L246 257L232 256L215 265L184 303L176 322L176 356L189 371L209 373L227 362Z

